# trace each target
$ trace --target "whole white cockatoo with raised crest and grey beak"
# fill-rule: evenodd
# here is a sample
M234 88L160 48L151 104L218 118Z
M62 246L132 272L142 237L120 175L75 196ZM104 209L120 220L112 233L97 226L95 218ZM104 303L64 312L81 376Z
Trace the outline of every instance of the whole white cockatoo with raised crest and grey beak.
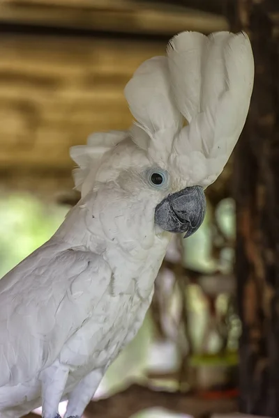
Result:
M245 33L180 33L128 82L133 127L71 148L80 201L0 280L1 418L40 405L56 418L63 399L67 418L82 417L142 325L172 233L202 224L253 79Z

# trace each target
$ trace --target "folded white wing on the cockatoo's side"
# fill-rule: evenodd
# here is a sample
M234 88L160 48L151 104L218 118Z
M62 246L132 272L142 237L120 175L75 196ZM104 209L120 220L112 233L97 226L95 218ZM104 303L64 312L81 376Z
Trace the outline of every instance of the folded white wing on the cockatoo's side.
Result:
M0 387L27 382L51 364L110 277L101 256L49 243L6 274L0 281Z

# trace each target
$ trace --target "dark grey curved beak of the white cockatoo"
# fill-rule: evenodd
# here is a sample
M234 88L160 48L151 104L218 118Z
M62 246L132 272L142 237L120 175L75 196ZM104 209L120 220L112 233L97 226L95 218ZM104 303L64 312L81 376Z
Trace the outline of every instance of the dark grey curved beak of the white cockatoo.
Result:
M202 225L206 199L202 187L193 186L169 194L155 209L155 223L165 231L190 237Z

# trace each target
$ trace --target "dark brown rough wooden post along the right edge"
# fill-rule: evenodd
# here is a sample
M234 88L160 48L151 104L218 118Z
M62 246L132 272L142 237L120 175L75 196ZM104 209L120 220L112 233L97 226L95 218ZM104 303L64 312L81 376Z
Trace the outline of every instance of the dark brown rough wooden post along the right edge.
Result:
M250 114L234 155L240 410L279 417L279 1L228 3L232 30L248 33L255 56Z

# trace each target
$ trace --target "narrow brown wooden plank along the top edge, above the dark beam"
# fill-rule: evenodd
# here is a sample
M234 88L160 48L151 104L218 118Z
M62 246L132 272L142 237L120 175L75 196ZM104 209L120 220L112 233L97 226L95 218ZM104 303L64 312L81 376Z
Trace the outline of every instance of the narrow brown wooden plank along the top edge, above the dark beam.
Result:
M117 2L116 2L117 3ZM126 8L100 8L68 6L68 2L0 0L0 21L44 26L63 26L95 31L121 31L124 33L151 33L171 35L179 31L220 31L227 29L225 17L209 13L195 13L152 5L128 2ZM130 5L130 6L129 6Z

